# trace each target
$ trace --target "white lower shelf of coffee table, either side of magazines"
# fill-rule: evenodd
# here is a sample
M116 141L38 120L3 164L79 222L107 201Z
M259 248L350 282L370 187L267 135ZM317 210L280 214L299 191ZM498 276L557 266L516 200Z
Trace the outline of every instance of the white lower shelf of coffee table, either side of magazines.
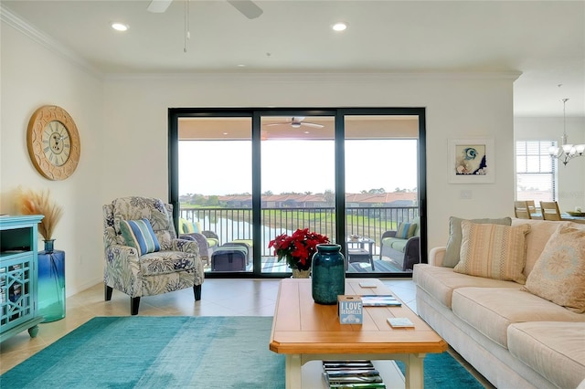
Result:
M372 361L372 363L374 363L376 370L380 372L380 376L388 389L402 389L406 387L404 375L402 375L399 366L394 361ZM329 387L324 382L322 361L311 361L303 364L302 372L303 388L318 389Z

